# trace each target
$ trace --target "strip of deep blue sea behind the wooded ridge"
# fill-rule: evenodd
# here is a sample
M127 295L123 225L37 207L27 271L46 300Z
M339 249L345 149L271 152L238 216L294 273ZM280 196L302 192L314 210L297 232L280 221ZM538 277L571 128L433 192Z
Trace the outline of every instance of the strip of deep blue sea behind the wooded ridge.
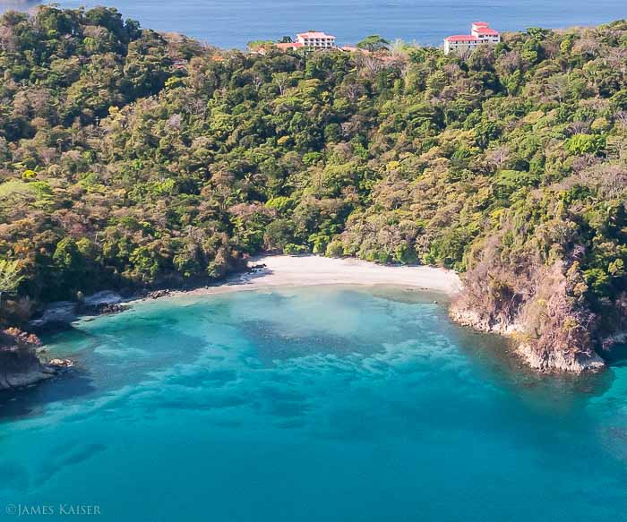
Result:
M37 0L0 0L0 12L36 4ZM499 30L525 30L592 25L627 16L624 0L56 0L56 4L112 5L143 27L238 48L253 39L279 39L309 29L330 32L345 44L376 33L440 45L447 35L468 33L470 22L477 20L490 21Z

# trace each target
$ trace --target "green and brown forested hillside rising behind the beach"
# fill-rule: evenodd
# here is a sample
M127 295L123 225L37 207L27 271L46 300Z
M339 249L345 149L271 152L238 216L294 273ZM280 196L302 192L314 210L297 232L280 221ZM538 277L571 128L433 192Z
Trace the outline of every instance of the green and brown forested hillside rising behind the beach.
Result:
M253 56L48 6L0 18L0 73L5 322L270 250L465 272L455 316L538 367L625 329L627 21Z

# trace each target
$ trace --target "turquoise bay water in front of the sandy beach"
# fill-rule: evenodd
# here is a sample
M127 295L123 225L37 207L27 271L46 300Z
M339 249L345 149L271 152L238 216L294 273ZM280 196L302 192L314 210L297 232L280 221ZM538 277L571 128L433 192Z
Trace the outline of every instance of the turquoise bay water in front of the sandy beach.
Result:
M434 299L308 287L82 321L48 339L79 372L2 399L0 518L623 520L627 366L537 377Z

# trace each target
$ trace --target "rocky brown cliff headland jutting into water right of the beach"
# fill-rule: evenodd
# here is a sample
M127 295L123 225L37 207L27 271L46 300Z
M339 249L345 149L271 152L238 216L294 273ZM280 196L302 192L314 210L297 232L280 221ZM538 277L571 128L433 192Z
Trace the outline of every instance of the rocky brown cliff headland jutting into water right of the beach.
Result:
M490 258L492 265L498 264L495 259ZM581 294L582 283L575 269L571 265L565 270L562 262L556 262L517 279L509 270L495 266L486 270L479 262L451 305L451 318L511 338L521 360L539 372L596 372L605 366L595 351L597 318L576 295Z

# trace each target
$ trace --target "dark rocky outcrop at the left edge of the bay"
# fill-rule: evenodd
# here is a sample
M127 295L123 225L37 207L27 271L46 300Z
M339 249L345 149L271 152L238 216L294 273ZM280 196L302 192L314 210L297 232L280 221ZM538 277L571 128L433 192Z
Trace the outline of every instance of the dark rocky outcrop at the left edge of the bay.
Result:
M0 389L13 389L46 381L73 366L66 359L42 363L39 338L18 329L0 331Z

